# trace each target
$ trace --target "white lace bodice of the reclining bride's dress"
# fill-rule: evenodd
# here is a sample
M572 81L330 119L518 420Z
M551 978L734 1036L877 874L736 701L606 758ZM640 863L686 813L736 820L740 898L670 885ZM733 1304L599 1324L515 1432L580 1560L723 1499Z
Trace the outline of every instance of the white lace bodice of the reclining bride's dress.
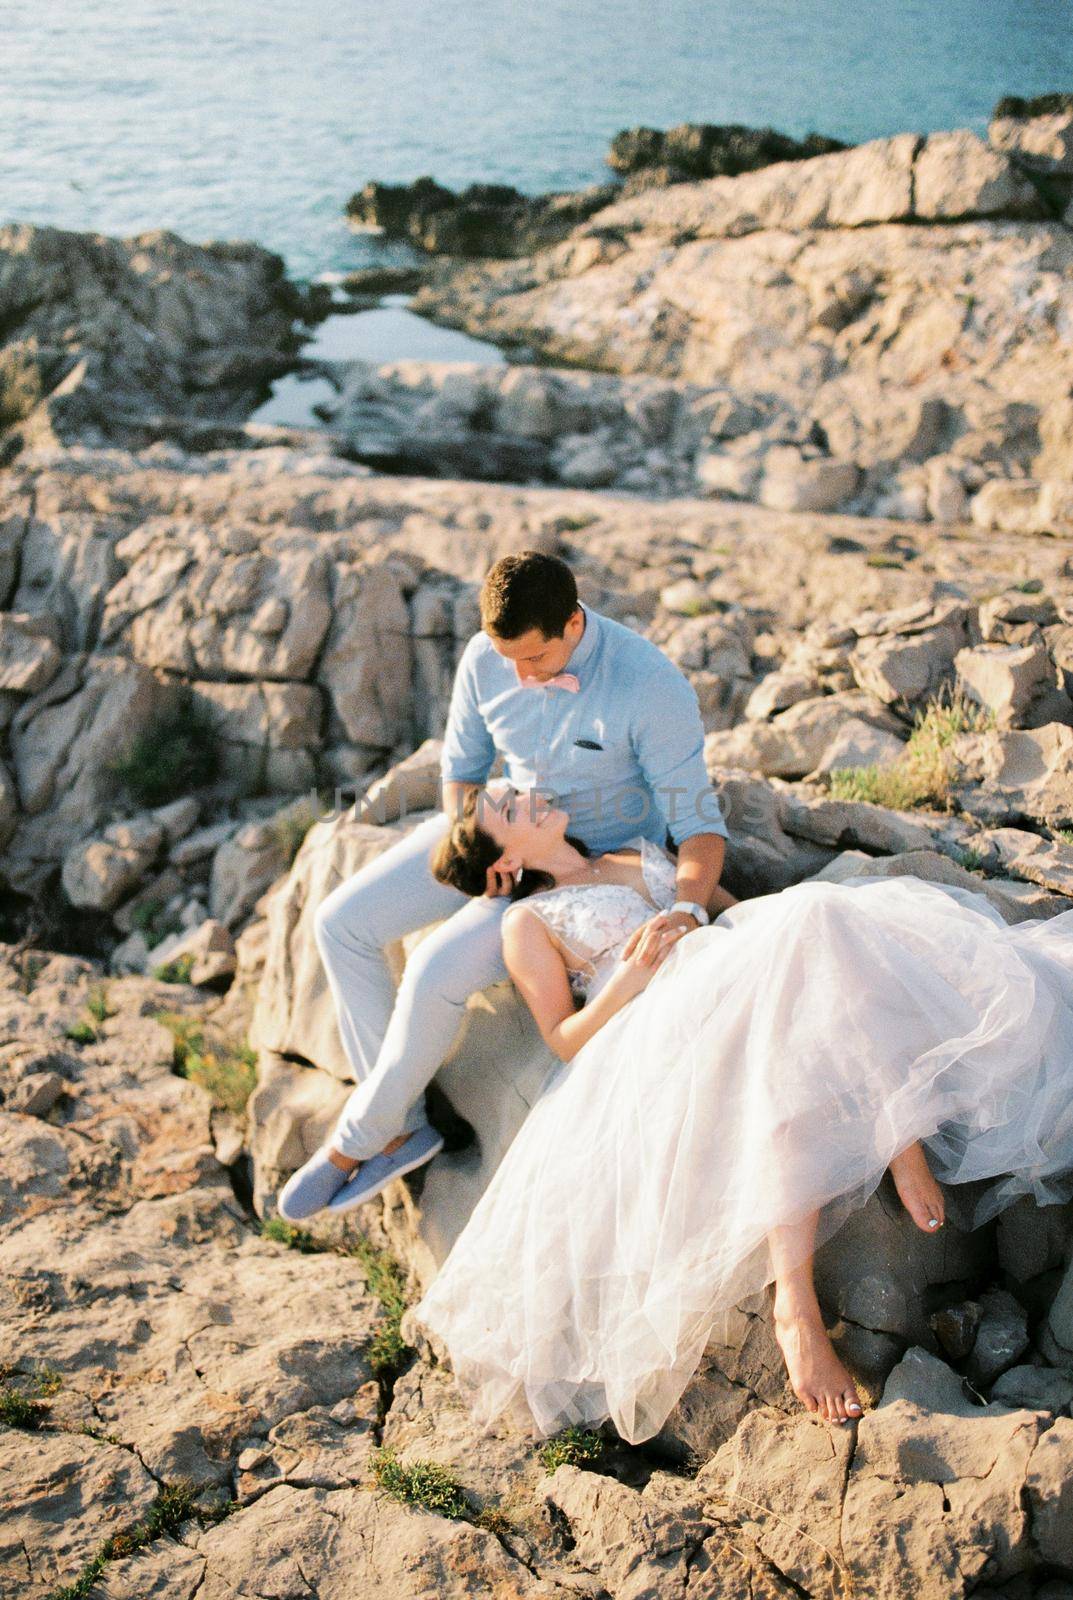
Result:
M611 978L622 946L635 928L675 904L673 858L649 838L632 838L622 848L641 851L641 874L652 904L628 883L564 883L518 901L548 926L566 960L569 984L580 1000L592 1000Z

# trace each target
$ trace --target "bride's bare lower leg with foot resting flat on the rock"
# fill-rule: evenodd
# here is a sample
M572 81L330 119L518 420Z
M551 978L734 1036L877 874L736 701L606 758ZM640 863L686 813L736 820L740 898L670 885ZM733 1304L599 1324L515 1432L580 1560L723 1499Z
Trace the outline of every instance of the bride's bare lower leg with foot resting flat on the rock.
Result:
M835 1355L812 1283L816 1213L768 1235L776 1272L776 1338L790 1386L809 1411L828 1422L856 1422L860 1395Z

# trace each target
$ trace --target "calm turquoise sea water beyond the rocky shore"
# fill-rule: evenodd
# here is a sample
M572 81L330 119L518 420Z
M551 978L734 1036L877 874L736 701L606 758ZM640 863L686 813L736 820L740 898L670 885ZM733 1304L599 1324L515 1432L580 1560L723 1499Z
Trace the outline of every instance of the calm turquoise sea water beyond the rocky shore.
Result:
M630 123L867 139L1073 88L1073 0L0 0L0 219L376 246L368 178L528 192Z

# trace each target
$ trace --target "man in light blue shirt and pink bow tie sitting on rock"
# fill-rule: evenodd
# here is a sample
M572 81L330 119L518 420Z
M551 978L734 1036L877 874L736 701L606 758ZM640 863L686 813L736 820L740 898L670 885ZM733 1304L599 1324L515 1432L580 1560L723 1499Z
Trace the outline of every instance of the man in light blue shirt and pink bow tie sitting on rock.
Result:
M704 766L704 728L686 677L649 640L580 605L569 566L523 550L481 586L481 632L462 653L443 739L443 811L421 822L317 907L313 931L358 1086L331 1144L289 1179L289 1221L371 1200L443 1147L424 1090L467 998L507 976L501 920L513 886L489 872L469 899L429 856L497 755L517 789L569 813L598 854L638 834L678 853L678 899L651 920L676 936L707 923L726 824ZM443 920L446 918L446 920ZM441 922L406 962L395 994L384 946Z

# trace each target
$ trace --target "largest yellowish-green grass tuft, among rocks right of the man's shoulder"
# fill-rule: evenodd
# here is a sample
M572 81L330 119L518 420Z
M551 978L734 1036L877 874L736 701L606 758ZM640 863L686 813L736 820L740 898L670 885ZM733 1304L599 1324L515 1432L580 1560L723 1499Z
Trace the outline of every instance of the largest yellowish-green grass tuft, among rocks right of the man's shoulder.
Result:
M937 696L916 714L897 760L886 766L836 768L827 774L828 794L833 800L867 800L892 811L950 810L953 741L993 725L993 714L963 694Z

